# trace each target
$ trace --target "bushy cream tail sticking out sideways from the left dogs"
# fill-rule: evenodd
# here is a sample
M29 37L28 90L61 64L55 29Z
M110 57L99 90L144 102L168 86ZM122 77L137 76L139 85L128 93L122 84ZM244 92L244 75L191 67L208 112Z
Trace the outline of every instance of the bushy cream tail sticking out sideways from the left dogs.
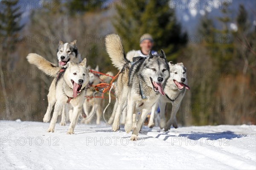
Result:
M36 65L40 70L51 77L56 77L61 69L58 65L47 61L44 57L35 53L28 54L26 58L30 64Z

